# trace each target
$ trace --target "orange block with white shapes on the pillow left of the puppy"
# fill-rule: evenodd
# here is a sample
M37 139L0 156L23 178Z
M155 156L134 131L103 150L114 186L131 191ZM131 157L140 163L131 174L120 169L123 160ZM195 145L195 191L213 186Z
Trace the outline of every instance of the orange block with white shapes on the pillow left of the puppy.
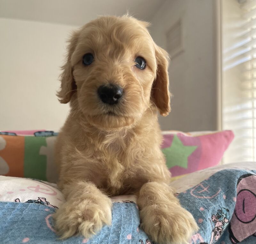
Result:
M24 176L24 136L0 135L0 174Z

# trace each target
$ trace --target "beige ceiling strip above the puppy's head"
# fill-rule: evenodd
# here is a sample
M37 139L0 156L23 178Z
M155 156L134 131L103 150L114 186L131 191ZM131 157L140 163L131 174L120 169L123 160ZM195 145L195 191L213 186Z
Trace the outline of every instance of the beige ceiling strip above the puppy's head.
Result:
M81 26L98 15L127 10L150 21L165 0L0 0L0 17Z

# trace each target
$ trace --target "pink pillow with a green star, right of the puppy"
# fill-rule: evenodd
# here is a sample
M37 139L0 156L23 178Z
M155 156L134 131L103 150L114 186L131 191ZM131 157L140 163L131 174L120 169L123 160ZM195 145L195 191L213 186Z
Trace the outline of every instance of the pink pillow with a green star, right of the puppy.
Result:
M234 138L232 131L163 134L162 148L173 177L219 164Z

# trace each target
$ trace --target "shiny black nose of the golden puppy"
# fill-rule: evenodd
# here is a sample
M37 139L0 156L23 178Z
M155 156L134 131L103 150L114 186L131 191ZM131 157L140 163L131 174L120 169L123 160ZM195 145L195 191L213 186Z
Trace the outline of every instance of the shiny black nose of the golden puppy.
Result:
M123 95L123 89L116 85L100 86L98 94L103 103L116 104Z

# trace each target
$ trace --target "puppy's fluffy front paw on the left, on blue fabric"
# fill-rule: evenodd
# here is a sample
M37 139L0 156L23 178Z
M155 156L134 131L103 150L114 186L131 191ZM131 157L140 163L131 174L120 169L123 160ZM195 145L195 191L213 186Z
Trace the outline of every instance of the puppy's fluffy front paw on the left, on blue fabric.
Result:
M88 200L68 201L53 215L54 228L61 239L74 234L90 238L100 231L104 224L111 225L111 200L105 205L90 203Z

